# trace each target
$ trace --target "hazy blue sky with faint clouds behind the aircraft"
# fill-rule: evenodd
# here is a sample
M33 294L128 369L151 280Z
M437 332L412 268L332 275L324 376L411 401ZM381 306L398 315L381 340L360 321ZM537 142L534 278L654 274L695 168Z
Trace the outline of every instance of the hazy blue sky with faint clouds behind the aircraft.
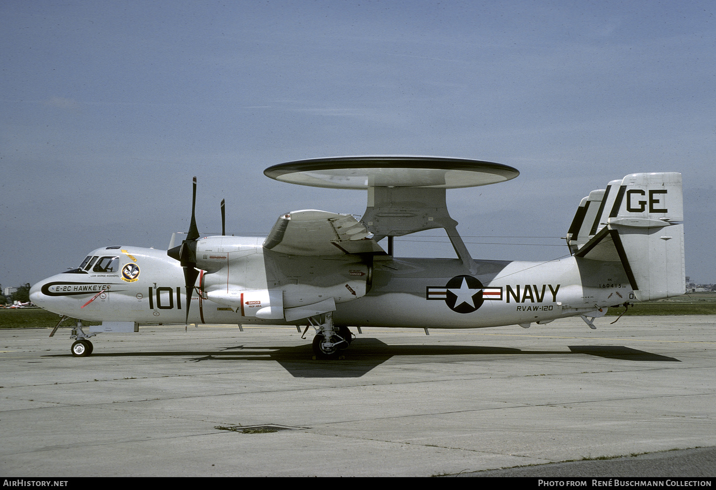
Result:
M266 233L361 191L275 182L279 162L440 155L516 167L448 192L475 258L547 260L581 197L684 177L687 268L716 282L710 1L12 1L0 6L0 283L105 245ZM396 255L454 256L426 232ZM436 243L443 241L442 244ZM486 245L496 242L500 245ZM507 244L507 245L504 245Z

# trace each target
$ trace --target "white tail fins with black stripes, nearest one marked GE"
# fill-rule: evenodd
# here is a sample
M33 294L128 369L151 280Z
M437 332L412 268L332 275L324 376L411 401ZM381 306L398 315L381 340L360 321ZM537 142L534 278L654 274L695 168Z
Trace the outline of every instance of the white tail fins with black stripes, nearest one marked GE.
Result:
M594 191L589 197L592 194ZM609 182L591 224L589 240L581 245L589 224L588 216L584 217L579 232L575 235L573 222L572 235L568 235L570 250L576 257L621 261L639 301L684 294L681 174L639 173L627 175L621 182Z

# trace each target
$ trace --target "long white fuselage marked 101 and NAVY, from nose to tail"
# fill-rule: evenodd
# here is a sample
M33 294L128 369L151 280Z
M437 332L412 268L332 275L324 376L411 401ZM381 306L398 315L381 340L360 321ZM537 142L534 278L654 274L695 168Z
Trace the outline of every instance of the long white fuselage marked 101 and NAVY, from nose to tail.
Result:
M31 299L54 313L82 320L184 323L185 280L177 260L169 258L165 250L147 248L100 249L93 254L102 253L120 258L116 270L54 275L33 286ZM275 270L279 267L271 265L278 263L275 257L264 254L258 246L252 256L253 262L258 260L261 270L267 271L261 288L283 291L284 305L291 306L292 291L301 288L304 278L299 275L277 277ZM304 270L300 257L284 256L280 260L281 263L288 260L296 270ZM351 260L356 259L330 258L321 262L321 258L311 258L316 276L305 279L306 288L316 290L321 283L321 271L334 272L331 291L336 288L343 291L342 297L336 299L333 313L336 325L483 328L546 322L596 312L633 298L619 263L574 257L541 263L475 261L477 273L470 274L457 259L376 258L372 278L368 275L368 292L364 293L360 283L351 281L361 279L365 275L361 271L369 266L354 265L356 262ZM274 275L269 277L272 269ZM284 266L281 270L285 269ZM254 275L256 272L253 271ZM357 277L349 277L349 273ZM341 279L340 274L345 278ZM202 274L199 284L205 290L221 290L221 281L226 281L226 288L236 288L229 285L228 276L223 279L211 274ZM333 297L334 293L330 294ZM357 298L352 299L351 294ZM202 298L195 292L189 323L307 323L303 319L262 320L256 318L251 305L242 306L245 308L216 303L205 294ZM603 312L591 313L591 316L601 314Z

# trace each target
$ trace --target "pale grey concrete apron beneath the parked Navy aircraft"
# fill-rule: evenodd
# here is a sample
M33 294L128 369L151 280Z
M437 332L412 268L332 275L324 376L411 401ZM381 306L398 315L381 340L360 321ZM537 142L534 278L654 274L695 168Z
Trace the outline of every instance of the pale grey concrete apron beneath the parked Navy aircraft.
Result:
M338 361L292 327L142 326L87 358L69 330L0 330L0 474L434 476L716 446L716 316L612 320L364 329Z

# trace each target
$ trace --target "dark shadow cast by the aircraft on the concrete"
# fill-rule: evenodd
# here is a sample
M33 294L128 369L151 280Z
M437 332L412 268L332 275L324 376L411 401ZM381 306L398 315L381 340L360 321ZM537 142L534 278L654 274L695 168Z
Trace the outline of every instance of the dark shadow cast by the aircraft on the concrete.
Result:
M92 357L115 356L191 356L188 361L276 361L296 378L359 378L373 368L395 356L445 356L440 362L465 361L450 356L516 356L516 355L563 355L587 354L601 358L621 361L671 361L681 362L676 358L639 351L624 346L569 346L565 351L521 351L508 347L485 346L396 346L389 345L377 338L359 338L335 361L316 361L312 359L311 344L292 347L276 346L233 346L219 348L216 351L200 352L133 352L133 353L95 353ZM67 357L54 355L51 357Z

